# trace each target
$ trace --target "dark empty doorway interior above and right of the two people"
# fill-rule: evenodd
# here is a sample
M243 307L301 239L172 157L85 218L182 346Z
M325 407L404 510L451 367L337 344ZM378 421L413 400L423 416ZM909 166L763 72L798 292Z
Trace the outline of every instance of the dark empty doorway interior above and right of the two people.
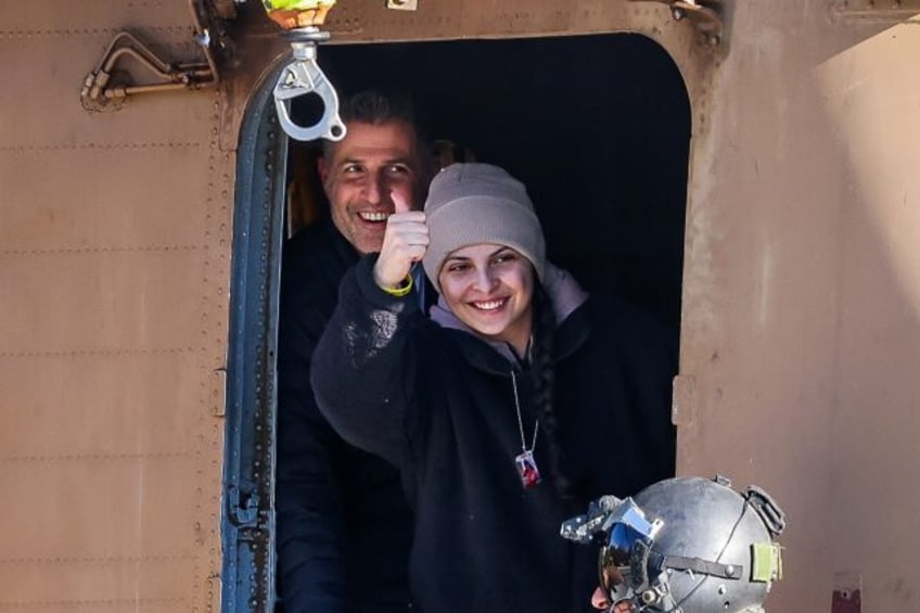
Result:
M656 42L611 34L325 46L319 61L342 95L410 92L432 137L526 183L551 260L677 333L690 104Z

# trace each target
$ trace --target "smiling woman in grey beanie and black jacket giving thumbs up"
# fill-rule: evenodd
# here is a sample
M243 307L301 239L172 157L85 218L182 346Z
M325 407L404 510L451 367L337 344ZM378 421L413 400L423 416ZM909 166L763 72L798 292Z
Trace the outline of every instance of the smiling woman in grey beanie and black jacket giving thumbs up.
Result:
M520 181L448 166L346 273L315 353L332 426L409 484L422 610L590 610L593 553L559 537L565 513L673 474L666 335L545 252ZM419 260L442 294L430 318L395 291Z

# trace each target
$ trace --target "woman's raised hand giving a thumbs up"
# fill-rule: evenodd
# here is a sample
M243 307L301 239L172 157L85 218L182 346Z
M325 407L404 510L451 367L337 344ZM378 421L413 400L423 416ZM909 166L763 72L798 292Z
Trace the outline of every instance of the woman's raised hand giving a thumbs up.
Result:
M380 257L374 265L376 284L385 290L401 285L412 265L425 255L427 246L429 227L424 213L408 210L391 215L386 220Z

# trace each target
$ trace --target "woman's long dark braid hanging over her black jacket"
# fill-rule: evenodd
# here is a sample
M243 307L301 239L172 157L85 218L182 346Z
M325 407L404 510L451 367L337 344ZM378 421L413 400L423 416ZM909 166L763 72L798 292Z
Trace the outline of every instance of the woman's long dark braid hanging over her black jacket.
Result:
M552 366L555 314L552 302L541 283L534 288L534 345L531 354L531 375L534 381L537 413L549 445L550 475L557 491L567 500L571 484L562 470L562 446L559 443L559 421L553 410L555 371Z

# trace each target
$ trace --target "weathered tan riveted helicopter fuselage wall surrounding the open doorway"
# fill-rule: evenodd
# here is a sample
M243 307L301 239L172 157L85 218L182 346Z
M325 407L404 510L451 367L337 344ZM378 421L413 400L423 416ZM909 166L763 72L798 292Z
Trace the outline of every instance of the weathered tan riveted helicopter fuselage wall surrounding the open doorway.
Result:
M920 27L726 3L721 51L654 2L340 2L336 40L635 30L693 108L678 471L783 507L771 611L918 608ZM833 3L830 3L833 4ZM284 52L256 2L218 91L89 114L132 28L200 60L184 2L0 12L0 609L218 606L235 140ZM898 23L900 21L900 23ZM859 577L839 585L835 577Z

